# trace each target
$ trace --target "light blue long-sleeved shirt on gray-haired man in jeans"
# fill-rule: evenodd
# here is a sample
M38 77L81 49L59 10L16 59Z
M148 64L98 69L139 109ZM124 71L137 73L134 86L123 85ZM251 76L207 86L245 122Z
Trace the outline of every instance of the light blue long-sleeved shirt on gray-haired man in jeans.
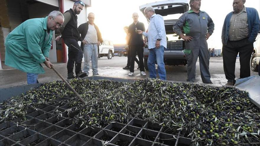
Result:
M163 16L153 14L150 18L148 32L143 32L145 37L148 37L148 49L155 48L157 39L162 39L160 45L167 48L166 32L164 26Z

